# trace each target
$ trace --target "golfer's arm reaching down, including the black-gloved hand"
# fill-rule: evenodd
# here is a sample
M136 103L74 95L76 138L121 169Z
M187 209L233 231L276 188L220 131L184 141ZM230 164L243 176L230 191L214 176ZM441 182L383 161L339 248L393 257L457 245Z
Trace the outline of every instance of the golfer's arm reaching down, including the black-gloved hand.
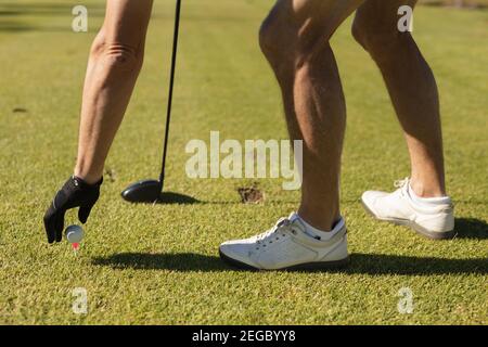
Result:
M49 243L62 241L68 209L79 207L78 219L85 223L99 200L103 166L142 67L152 4L153 0L107 0L85 80L75 175L43 218Z

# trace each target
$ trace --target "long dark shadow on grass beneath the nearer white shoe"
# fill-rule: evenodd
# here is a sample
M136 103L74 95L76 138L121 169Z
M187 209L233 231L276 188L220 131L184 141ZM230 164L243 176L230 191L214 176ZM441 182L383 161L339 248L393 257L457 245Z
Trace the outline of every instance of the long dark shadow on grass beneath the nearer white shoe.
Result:
M187 271L229 271L234 270L220 258L200 254L143 254L123 253L108 257L95 258L93 265L107 266L117 270L170 270ZM244 270L235 270L244 271ZM300 272L341 272L345 274L487 274L488 258L446 259L420 258L395 255L352 254L350 265L342 270L301 270Z

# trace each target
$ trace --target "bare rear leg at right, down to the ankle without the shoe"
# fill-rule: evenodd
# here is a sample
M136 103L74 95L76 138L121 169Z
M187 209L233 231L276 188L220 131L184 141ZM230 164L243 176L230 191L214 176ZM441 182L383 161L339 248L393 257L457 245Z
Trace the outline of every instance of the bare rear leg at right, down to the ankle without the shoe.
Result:
M434 75L410 33L400 33L398 9L416 0L368 0L352 33L378 65L403 127L412 172L421 197L446 195L439 98Z

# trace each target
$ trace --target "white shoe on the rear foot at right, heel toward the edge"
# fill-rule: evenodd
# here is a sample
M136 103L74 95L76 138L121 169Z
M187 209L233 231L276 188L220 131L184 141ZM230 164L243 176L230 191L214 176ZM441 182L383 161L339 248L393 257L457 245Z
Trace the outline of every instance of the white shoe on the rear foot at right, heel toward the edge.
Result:
M410 179L398 181L394 193L369 191L362 194L364 209L378 220L407 226L435 240L454 236L454 207L449 197L412 196Z

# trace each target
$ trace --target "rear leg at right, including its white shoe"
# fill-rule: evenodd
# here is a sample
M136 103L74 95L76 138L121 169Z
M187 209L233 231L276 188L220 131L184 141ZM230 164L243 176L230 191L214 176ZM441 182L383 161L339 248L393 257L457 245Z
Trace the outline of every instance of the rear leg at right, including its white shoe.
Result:
M409 146L412 178L388 194L362 195L375 218L406 224L431 239L454 235L454 214L446 196L439 98L434 75L410 33L400 33L400 5L415 0L369 0L358 9L352 33L378 65Z

